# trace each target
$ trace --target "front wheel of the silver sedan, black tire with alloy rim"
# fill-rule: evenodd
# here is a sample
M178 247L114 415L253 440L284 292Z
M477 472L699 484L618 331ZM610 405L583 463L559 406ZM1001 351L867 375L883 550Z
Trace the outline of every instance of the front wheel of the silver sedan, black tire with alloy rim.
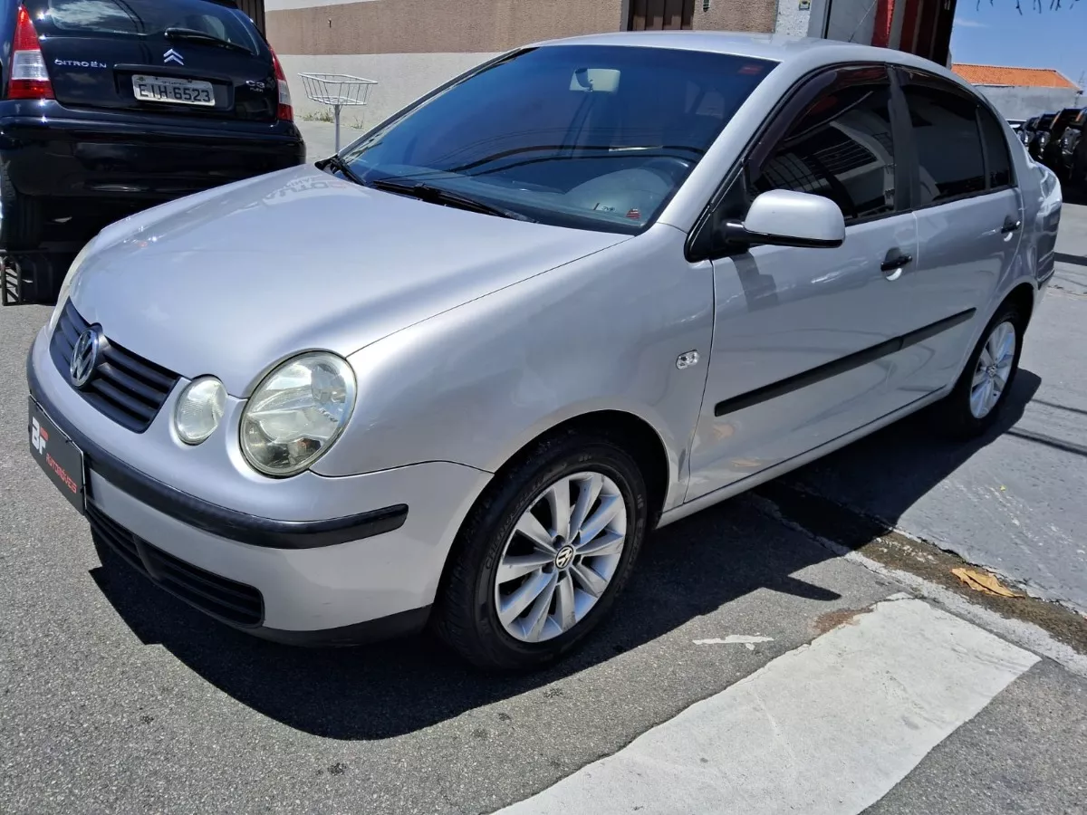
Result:
M580 513L587 521L596 519L595 524L582 525L590 536L586 540L573 530L570 541L552 540L552 548L547 549L521 531L515 532L515 528L523 527L534 530L537 538L545 535L551 539L557 525L551 510L554 504L548 496L553 498L562 491L569 497L571 516L577 526L577 498L583 489L587 490L585 494L594 494L596 478L601 485L596 493L599 498ZM600 624L622 591L646 535L647 506L642 474L615 441L570 430L537 442L496 478L461 527L433 617L439 638L487 670L534 668L554 661ZM622 524L620 509L624 513ZM594 535L600 518L611 516L613 511L609 525ZM617 529L623 532L621 544L615 543ZM621 550L612 551L616 546ZM577 554L594 550L610 553ZM552 556L550 564L542 563ZM513 565L520 565L515 564L517 559L540 565L523 577L500 580L500 567L501 575L510 577ZM588 577L591 579L586 580ZM520 607L516 598L534 597L536 588L545 586L545 579L553 588L542 588L511 619L510 610ZM604 581L602 590L600 580ZM585 586L599 590L599 597L594 599ZM507 611L504 622L499 614L500 603ZM566 610L574 616L567 617Z

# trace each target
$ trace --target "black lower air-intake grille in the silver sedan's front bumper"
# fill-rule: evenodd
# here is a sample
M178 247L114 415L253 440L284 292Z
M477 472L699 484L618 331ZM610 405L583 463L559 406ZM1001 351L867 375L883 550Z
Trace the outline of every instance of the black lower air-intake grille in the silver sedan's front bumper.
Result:
M259 626L264 598L252 586L220 577L151 546L87 502L90 530L133 568L159 587L213 617L236 626Z

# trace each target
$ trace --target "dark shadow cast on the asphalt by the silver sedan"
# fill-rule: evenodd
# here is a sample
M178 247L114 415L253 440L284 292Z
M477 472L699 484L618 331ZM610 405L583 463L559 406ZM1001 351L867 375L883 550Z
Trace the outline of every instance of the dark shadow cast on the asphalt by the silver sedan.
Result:
M836 466L886 484L886 462L897 457L896 494L902 502L915 500L1008 429L1038 381L1022 372L1004 421L974 443L930 440L925 419L919 418L854 444ZM767 489L773 491L773 485ZM630 584L584 648L548 669L500 676L472 669L425 635L338 650L264 642L175 600L108 552L91 575L143 643L163 645L239 702L309 734L384 739L604 663L757 589L827 603L839 600L834 591L792 577L832 557L804 536L784 532L769 516L754 515L750 499L724 502L650 536Z

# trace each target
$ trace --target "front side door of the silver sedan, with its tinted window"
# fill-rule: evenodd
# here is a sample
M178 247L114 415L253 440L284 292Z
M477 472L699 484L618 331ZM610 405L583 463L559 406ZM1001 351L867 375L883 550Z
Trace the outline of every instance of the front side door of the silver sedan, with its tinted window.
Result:
M714 333L688 500L888 410L885 355L905 326L889 278L917 251L903 195L909 176L896 155L895 131L908 123L891 103L884 66L836 68L811 86L822 89L757 140L711 224L742 220L757 195L788 189L835 201L847 237L835 249L741 251L715 239L707 251ZM772 133L780 135L771 140Z

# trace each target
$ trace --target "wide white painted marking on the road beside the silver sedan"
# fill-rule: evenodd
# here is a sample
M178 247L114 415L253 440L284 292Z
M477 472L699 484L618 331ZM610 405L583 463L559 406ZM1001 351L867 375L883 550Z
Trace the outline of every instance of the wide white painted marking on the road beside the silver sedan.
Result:
M1037 661L884 601L501 813L859 813Z

